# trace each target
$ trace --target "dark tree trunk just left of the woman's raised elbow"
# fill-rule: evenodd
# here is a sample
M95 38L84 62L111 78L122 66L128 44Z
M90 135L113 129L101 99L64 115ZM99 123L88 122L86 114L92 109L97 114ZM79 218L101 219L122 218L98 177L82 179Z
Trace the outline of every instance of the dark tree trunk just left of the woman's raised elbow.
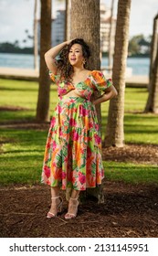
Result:
M40 68L39 90L37 99L37 122L49 120L49 91L50 79L47 75L47 66L44 54L51 48L51 0L41 0L40 16Z

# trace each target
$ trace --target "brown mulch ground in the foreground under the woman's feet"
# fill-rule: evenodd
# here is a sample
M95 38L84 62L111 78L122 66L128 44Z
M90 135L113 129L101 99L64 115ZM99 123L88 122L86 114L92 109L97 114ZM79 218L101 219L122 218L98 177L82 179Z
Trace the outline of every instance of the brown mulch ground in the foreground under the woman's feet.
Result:
M67 202L55 219L47 219L49 187L0 189L2 237L158 237L158 187L104 181L106 202L79 205L76 219L64 219ZM61 196L65 193L61 191Z

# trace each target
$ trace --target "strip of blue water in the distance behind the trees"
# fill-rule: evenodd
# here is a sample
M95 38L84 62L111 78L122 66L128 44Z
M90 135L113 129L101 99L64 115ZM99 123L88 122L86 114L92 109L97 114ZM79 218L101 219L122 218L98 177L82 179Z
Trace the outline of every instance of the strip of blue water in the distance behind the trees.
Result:
M132 75L148 75L149 58L128 58L127 67L132 68ZM108 59L103 58L102 67L108 66ZM0 67L33 69L34 57L32 54L0 53Z

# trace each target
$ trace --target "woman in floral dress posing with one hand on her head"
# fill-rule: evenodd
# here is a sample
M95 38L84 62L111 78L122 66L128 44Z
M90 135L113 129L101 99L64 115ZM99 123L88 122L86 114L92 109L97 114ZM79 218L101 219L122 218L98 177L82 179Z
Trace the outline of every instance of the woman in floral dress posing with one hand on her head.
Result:
M56 217L61 210L60 188L71 191L65 219L75 218L79 192L100 185L104 176L95 105L110 100L117 91L102 72L87 69L89 58L90 48L81 38L63 42L45 54L50 78L58 86L42 173L42 181L51 187L47 218ZM90 101L94 91L103 93Z

